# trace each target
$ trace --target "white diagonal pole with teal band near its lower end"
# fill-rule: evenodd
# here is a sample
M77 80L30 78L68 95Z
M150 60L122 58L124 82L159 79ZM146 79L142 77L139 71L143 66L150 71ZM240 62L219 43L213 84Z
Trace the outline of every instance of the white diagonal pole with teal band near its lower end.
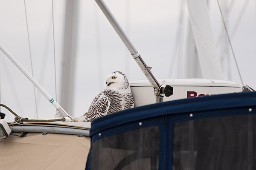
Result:
M3 45L0 44L0 50L3 51L3 53L17 66L17 68L20 69L20 71L35 85L36 88L38 88L39 91L49 100L49 102L52 103L52 105L65 117L71 117L69 114L67 114L66 111L64 111L63 108L47 93L47 91L44 90L44 88L29 74L29 72L26 71L25 68L12 56L12 54L9 53L9 51L6 50L6 48L3 47Z

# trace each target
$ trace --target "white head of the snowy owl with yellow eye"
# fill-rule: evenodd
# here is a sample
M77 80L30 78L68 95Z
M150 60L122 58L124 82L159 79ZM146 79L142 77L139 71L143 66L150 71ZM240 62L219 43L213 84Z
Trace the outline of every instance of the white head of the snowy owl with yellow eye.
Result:
M128 89L130 88L127 77L121 71L113 71L108 74L105 81L105 89Z

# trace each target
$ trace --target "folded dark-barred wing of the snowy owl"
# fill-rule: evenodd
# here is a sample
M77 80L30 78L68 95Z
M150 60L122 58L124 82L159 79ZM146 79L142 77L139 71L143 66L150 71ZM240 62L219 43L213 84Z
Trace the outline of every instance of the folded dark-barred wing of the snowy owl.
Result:
M93 119L107 115L110 103L110 99L103 92L98 94L93 99L87 114L85 113L84 122L91 122Z

